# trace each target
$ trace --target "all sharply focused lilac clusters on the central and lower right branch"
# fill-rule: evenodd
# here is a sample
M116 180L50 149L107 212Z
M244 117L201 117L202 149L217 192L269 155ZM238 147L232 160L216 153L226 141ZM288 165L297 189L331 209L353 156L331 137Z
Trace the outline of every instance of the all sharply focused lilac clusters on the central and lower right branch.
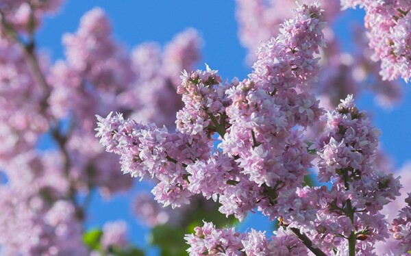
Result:
M279 220L276 237L215 229L211 223L187 235L191 255L373 255L388 238L384 205L399 195L399 178L375 167L380 132L353 103L327 112L323 135L312 146L302 129L323 115L310 84L319 74L324 45L318 3L300 5L281 34L262 44L248 79L222 82L217 71L184 72L184 107L174 133L121 114L97 116L97 137L121 157L133 177L150 175L164 206L190 203L193 194L219 201L219 211L238 220L255 209ZM218 134L218 138L214 135ZM217 140L217 141L216 141ZM218 149L212 149L220 142ZM316 162L327 186L306 186Z

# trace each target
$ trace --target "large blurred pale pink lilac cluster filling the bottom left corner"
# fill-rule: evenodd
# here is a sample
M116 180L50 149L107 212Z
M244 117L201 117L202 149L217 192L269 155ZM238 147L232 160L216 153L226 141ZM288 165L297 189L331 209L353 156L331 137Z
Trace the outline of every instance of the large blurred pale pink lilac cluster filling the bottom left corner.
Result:
M18 155L0 185L0 244L4 255L86 255L77 209L66 200L69 184L61 156Z

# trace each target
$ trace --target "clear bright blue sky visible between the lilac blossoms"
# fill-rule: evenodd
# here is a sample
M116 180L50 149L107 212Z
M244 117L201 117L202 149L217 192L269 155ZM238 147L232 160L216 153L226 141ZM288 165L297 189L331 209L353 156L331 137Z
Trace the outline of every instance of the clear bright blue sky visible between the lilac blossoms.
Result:
M203 68L206 62L228 79L245 78L250 71L244 61L246 51L238 42L234 1L68 0L57 16L45 20L37 37L40 47L49 49L53 60L62 58L62 34L75 31L81 16L95 6L105 10L112 21L114 37L129 49L146 41L164 45L178 32L194 27L200 31L204 41L198 68ZM349 21L362 22L363 12L351 10L345 12L344 16ZM347 34L347 23L340 22L336 26L338 36L349 49L351 39ZM395 159L397 168L411 159L410 85L403 83L403 89L402 103L391 111L377 107L370 95L358 99L360 107L371 112L373 123L382 130L382 145ZM140 190L149 190L149 186L138 184L131 194ZM115 196L110 202L96 195L90 207L88 227L99 227L108 220L125 219L131 225L130 239L140 246L145 244L148 229L131 214L131 194ZM251 214L240 229L266 229L269 226L269 222L258 214Z

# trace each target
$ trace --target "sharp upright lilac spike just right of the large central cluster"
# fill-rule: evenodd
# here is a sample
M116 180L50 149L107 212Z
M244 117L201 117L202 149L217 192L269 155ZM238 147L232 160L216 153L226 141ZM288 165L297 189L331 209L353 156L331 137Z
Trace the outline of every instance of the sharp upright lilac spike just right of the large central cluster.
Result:
M323 203L316 212L314 233L316 238L327 234L321 242L337 251L343 252L347 240L335 235L347 238L353 229L363 235L357 242L360 251L371 252L375 241L388 238L388 222L380 211L399 196L401 185L399 178L375 168L379 134L351 95L327 113L324 136L318 142L318 166L320 181L331 181L332 188L320 197Z

